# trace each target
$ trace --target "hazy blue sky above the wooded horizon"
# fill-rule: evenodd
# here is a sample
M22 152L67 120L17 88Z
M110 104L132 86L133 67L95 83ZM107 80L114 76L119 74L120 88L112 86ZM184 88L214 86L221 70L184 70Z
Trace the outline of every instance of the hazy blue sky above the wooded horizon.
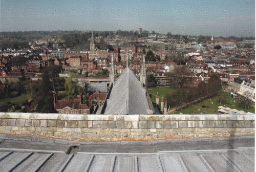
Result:
M95 30L255 36L255 0L0 0L0 32Z

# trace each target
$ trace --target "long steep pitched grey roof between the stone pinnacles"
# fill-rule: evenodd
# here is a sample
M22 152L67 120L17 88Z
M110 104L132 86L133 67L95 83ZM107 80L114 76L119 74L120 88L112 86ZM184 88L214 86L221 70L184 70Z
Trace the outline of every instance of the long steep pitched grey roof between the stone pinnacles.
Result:
M147 102L146 90L130 68L125 68L114 82L104 114L153 114Z

